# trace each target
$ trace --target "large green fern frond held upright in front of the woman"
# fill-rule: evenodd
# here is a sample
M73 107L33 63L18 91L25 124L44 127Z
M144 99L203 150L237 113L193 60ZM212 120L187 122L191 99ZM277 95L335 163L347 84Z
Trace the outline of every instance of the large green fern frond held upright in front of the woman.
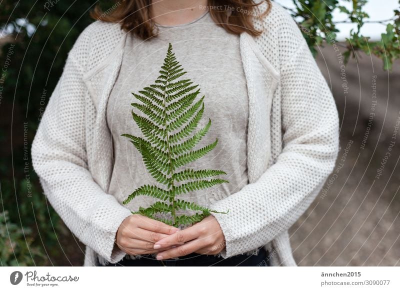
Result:
M153 84L145 86L137 93L132 93L138 102L132 102L131 106L144 115L141 116L132 109L132 119L136 122L144 138L128 133L121 134L129 138L129 141L141 154L144 165L151 176L166 187L164 189L155 185L143 185L128 195L123 204L129 203L139 195L157 198L161 201L156 201L147 208L139 207L137 211L131 211L132 214L139 213L174 226L198 222L210 212L227 213L176 198L181 193L229 182L221 178L205 179L226 174L222 170L183 169L176 171L179 167L210 152L218 142L216 138L214 142L193 150L208 132L211 119L208 119L208 123L193 134L204 112L204 96L195 100L200 89L190 79L181 78L185 73L182 65L176 60L175 54L172 52L172 45L169 43L157 79ZM175 184L181 181L186 182ZM186 209L201 213L176 215L177 210ZM156 217L156 213L171 213L172 220Z

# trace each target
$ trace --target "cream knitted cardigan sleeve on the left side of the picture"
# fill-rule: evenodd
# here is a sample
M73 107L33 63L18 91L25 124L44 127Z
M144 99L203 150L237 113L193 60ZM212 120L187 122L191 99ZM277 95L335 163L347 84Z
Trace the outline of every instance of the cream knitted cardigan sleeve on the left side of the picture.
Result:
M116 262L125 253L119 249L112 252L115 233L131 212L105 193L88 170L87 89L82 81L82 66L73 50L32 142L32 165L45 196L72 233L102 257Z

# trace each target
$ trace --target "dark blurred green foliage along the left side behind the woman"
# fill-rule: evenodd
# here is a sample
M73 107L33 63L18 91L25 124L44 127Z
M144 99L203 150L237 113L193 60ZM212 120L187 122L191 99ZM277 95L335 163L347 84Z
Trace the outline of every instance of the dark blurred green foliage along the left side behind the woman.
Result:
M30 145L67 52L83 28L93 21L88 11L96 2L0 3L0 27L10 33L2 39L0 52L0 69L8 53L8 65L0 83L0 139L4 144L0 151L0 245L5 245L0 252L0 265L69 263L65 255L60 255L65 245L61 245L58 239L62 237L57 235L73 238L42 194L31 165ZM48 92L44 100L43 90Z

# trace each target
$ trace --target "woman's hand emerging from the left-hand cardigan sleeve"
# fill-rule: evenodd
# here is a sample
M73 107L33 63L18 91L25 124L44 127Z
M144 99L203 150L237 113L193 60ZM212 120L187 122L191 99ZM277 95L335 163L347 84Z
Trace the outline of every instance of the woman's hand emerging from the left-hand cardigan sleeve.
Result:
M148 254L159 250L153 248L154 242L180 230L158 220L140 214L127 216L116 231L116 245L127 254ZM172 247L169 244L161 250Z

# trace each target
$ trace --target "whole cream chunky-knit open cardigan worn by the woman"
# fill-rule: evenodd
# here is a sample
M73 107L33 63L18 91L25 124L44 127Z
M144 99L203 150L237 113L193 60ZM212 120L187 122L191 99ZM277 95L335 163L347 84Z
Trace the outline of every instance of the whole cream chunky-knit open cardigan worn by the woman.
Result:
M267 7L262 3L262 12ZM262 20L261 36L240 35L249 119L249 184L227 196L211 194L226 258L257 247L272 265L296 265L288 228L304 213L332 171L338 114L329 87L291 16L278 4ZM70 50L34 137L33 168L44 194L86 245L84 266L117 262L116 230L130 210L107 193L112 172L107 97L118 74L126 34L95 21ZM137 257L138 258L138 257Z

